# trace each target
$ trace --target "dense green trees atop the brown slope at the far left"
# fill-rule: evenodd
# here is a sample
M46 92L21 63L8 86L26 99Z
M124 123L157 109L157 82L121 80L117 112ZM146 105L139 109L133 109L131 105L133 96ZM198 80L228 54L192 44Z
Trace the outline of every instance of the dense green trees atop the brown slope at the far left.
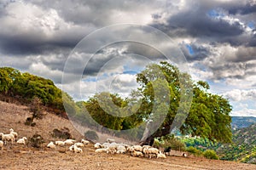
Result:
M65 111L61 89L56 88L54 82L14 68L0 68L0 94L19 99L23 104L30 104L32 99L38 97L43 105Z

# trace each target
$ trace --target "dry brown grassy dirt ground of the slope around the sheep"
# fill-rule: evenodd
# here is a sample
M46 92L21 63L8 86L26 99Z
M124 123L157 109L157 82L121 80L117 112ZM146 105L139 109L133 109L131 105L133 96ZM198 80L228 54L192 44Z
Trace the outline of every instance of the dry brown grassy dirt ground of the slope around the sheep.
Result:
M256 169L256 165L234 161L207 160L195 156L182 157L182 153L177 151L172 151L172 156L167 156L166 159L148 159L133 157L130 154L95 153L93 144L86 145L81 154L68 151L68 146L51 150L45 147L46 144L50 140L60 140L50 135L54 128L68 127L77 140L82 139L83 136L73 128L71 122L61 117L48 114L43 120L38 121L35 127L28 127L24 125L27 116L30 116L30 113L26 106L0 101L0 132L7 133L12 127L19 133L19 138L23 136L29 138L34 133L39 133L46 141L41 149L18 144L4 146L3 150L0 150L0 169Z

